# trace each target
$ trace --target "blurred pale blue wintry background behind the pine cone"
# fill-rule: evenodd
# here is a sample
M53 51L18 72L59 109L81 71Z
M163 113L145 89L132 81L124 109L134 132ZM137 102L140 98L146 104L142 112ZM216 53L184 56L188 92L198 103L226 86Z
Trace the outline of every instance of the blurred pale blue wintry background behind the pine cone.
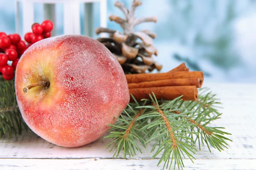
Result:
M115 1L107 0L105 18L108 28L122 31L118 24L108 20L110 14L123 16L113 6ZM132 0L120 1L131 6ZM143 5L137 8L135 15L156 16L158 21L140 24L136 29L150 29L157 33L153 44L159 55L155 60L163 64L162 72L185 62L190 70L204 71L209 82L256 83L256 0L141 1ZM47 8L38 2L34 3L34 20L41 23L47 17L44 14ZM0 0L0 31L7 34L18 31L24 35L22 22L15 30L15 7L15 0ZM61 35L64 34L64 7L62 3L56 3L54 8L55 34ZM92 12L90 29L100 26L99 2L90 4L89 8L79 4L83 35L87 34L84 30L85 9ZM21 2L17 10L21 19L26 17L22 16L22 10ZM98 37L94 31L90 35Z

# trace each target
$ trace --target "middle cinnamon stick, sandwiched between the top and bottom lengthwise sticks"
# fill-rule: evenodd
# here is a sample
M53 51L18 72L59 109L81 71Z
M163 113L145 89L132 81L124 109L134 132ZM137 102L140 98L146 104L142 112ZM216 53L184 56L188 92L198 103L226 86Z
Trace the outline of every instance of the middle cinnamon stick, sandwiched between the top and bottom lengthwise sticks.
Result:
M128 88L151 88L180 85L195 85L197 88L201 88L200 79L198 78L164 79L150 82L128 83Z

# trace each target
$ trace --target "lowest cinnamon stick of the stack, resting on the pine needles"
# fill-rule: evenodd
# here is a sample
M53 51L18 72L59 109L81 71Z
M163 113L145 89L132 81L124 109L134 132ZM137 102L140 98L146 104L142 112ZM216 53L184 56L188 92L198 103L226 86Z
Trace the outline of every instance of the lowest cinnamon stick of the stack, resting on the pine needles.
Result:
M138 101L140 101L141 99L150 99L149 94L152 94L152 92L154 92L157 99L173 100L183 95L183 100L198 100L198 89L195 85L153 88L129 88L129 92ZM131 102L133 102L132 97Z

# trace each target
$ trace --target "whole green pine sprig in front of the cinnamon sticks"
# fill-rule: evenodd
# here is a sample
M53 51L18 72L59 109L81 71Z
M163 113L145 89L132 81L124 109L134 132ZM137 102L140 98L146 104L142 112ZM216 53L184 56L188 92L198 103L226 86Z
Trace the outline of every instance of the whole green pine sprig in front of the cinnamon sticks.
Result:
M212 121L219 119L221 113L217 108L220 102L215 95L202 89L198 101L183 101L181 96L172 100L159 100L151 96L151 100L144 99L130 103L115 125L110 125L110 134L107 139L112 142L107 147L116 150L113 157L118 157L123 151L123 157L133 157L136 150L142 153L141 143L147 147L154 142L151 152L153 158L161 155L158 165L163 162L163 169L171 166L183 169L183 159L195 159L195 146L198 143L207 144L210 148L219 151L227 148L224 135L231 135L220 129L223 127L209 126ZM133 96L132 96L133 97Z

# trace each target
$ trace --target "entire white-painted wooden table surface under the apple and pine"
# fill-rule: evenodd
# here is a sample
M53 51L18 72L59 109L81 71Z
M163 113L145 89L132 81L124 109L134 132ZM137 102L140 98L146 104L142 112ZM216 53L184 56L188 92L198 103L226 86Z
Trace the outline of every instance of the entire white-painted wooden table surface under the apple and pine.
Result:
M256 85L208 83L223 103L222 118L214 126L226 127L233 142L219 152L207 146L195 155L192 163L184 159L183 169L228 170L256 169ZM113 152L103 138L79 148L64 148L41 139L32 132L11 139L0 139L0 170L160 170L159 156L152 159L151 146L131 159L112 159ZM149 144L150 145L150 144ZM122 154L120 154L122 155Z

